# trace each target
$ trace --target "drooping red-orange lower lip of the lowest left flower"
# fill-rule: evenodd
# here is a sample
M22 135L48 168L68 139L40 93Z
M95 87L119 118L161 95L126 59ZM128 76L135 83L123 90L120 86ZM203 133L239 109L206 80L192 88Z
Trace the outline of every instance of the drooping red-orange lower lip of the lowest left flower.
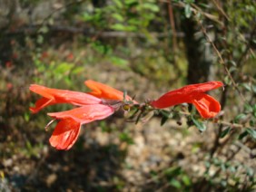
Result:
M49 139L50 144L55 149L70 149L78 138L80 128L81 124L73 119L59 121Z

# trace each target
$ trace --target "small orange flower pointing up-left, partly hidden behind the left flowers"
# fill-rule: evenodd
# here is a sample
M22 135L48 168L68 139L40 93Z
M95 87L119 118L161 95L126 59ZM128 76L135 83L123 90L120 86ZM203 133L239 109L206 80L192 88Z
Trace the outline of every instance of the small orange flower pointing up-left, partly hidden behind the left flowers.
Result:
M113 89L101 82L94 82L93 80L87 80L84 84L89 87L92 91L88 92L97 98L104 100L118 100L123 101L123 92ZM127 101L132 101L133 99L128 95L125 98Z

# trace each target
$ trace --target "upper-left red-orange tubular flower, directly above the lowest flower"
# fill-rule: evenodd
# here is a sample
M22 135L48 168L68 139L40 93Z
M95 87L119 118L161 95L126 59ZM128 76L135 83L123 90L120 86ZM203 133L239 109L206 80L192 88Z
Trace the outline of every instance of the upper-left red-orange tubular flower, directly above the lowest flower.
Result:
M102 102L100 99L84 92L51 89L37 84L30 85L29 90L43 96L43 98L35 102L35 107L30 108L33 113L57 103L71 103L82 106Z

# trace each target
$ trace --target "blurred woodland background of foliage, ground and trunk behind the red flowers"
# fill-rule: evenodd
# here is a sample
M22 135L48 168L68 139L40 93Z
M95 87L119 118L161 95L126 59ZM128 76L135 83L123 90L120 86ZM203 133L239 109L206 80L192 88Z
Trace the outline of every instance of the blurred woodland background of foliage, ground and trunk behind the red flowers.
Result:
M255 48L251 0L0 0L0 191L255 190ZM118 113L56 150L46 113L71 106L32 115L29 85L88 91L87 79L140 102L222 81L222 112L162 126Z

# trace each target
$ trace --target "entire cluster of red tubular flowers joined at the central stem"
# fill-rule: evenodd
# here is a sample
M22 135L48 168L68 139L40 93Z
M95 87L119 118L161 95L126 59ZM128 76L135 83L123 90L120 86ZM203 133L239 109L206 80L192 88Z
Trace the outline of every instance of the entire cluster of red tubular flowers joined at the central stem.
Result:
M156 101L147 101L142 104L123 94L123 91L115 90L101 82L88 80L84 83L91 91L84 93L51 89L36 84L30 86L30 91L42 96L35 102L35 106L30 108L33 113L59 103L70 103L75 106L73 110L47 113L54 120L59 120L49 139L50 144L56 149L71 149L83 124L94 120L103 120L127 104L138 110L142 109L141 106L148 106L155 110L187 102L196 107L202 118L213 118L221 110L220 103L205 92L223 86L222 82L188 85L178 90L169 91Z

